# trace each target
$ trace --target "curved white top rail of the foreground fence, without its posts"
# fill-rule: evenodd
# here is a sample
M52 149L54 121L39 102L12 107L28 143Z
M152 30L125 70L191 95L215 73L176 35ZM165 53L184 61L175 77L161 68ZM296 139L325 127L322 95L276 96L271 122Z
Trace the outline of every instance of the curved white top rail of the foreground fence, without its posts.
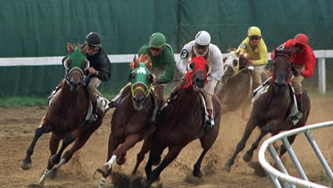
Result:
M295 128L291 131L286 131L284 133L277 134L276 136L273 136L271 138L268 138L268 140L265 140L263 145L261 145L258 153L259 162L260 165L263 167L266 173L268 173L268 177L272 177L273 179L270 179L271 182L274 184L277 183L277 180L280 180L281 182L287 182L289 184L294 184L300 187L314 187L314 188L327 188L324 185L316 184L314 182L308 182L304 179L300 179L297 177L292 177L290 175L287 175L283 172L280 172L279 170L276 170L274 167L272 167L268 161L266 160L265 153L268 150L268 148L273 147L273 143L275 143L277 140L282 140L284 138L287 138L288 136L296 135L298 133L305 133L307 131L311 131L318 128L325 128L333 126L333 121L326 121L323 123L317 123L311 126L305 126L302 128ZM278 158L278 157L277 157ZM279 187L279 186L277 186Z

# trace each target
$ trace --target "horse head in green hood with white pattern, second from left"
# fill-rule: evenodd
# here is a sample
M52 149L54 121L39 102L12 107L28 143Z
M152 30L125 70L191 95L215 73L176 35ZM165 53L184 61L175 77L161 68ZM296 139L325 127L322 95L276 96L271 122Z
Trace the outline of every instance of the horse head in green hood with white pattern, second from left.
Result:
M139 63L139 67L129 74L129 80L132 84L132 102L134 109L142 109L144 101L152 92L153 75L146 67L145 62Z

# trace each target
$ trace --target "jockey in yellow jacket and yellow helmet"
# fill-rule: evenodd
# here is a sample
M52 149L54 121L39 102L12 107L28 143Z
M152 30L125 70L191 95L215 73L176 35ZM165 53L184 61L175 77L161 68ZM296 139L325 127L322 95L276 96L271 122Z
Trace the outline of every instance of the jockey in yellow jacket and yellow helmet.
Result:
M265 41L261 36L260 28L252 26L248 28L248 35L238 46L238 50L243 53L248 53L251 57L250 65L254 65L252 74L253 89L259 87L261 82L261 72L268 63L267 48Z

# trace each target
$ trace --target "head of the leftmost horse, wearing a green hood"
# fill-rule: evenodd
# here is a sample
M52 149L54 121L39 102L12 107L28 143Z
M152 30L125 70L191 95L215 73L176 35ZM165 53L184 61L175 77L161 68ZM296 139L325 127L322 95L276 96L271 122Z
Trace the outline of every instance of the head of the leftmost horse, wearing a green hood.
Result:
M70 55L63 64L66 72L65 82L70 86L71 91L77 92L80 86L83 86L85 70L89 67L89 61L85 57L88 45L81 49L80 45L73 46L72 43L68 42L67 48Z

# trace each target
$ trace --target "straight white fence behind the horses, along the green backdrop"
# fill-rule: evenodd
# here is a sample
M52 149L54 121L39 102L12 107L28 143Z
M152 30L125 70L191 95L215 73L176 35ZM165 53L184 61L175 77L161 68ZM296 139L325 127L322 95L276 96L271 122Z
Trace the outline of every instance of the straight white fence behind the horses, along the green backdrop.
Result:
M226 54L223 54L223 57ZM314 50L318 59L318 85L319 92L326 93L326 70L325 58L333 57L333 50ZM134 54L107 55L112 63L132 62ZM179 54L174 54L175 60L179 60ZM56 57L4 57L0 58L0 67L9 66L36 66L36 65L61 65L63 56ZM270 52L268 53L270 60Z

